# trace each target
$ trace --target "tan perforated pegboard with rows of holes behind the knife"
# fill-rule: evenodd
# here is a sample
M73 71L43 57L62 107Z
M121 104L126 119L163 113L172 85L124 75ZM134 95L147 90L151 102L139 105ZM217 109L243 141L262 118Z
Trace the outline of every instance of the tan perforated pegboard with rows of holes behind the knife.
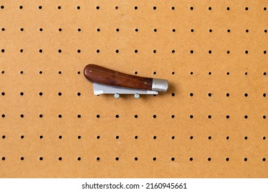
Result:
M268 176L268 3L0 1L2 178ZM93 95L89 64L167 79Z

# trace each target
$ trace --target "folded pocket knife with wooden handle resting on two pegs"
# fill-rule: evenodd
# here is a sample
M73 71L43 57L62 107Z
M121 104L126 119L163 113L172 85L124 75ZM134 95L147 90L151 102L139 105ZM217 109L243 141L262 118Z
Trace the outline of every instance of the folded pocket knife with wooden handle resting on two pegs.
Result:
M168 81L150 77L139 77L120 73L96 64L88 64L84 69L87 80L93 82L94 95L114 94L115 99L120 94L133 94L135 99L139 95L157 95L158 92L168 90Z

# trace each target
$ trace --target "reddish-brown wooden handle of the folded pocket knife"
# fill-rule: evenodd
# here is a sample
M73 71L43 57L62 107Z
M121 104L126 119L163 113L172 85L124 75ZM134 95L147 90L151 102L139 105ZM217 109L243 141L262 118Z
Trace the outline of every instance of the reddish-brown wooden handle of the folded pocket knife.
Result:
M84 75L87 80L100 84L152 90L153 78L128 75L96 64L88 64L84 69Z

